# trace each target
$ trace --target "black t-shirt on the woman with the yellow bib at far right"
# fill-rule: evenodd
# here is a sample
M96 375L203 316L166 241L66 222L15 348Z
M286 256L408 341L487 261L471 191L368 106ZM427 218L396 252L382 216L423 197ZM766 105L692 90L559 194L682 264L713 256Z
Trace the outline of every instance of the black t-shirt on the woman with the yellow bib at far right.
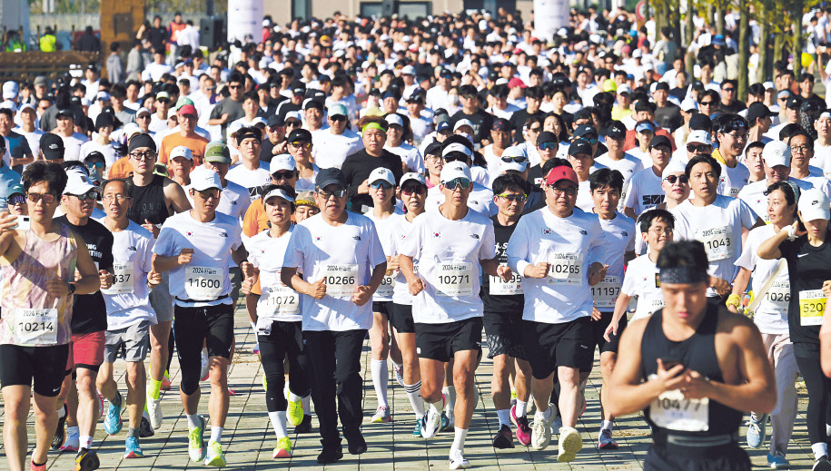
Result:
M809 349L819 351L819 326L803 326L799 319L799 291L822 289L825 280L831 280L831 232L819 247L808 243L807 236L796 240L785 240L779 246L782 257L787 261L787 272L791 281L791 299L787 306L787 325L791 341L807 344Z

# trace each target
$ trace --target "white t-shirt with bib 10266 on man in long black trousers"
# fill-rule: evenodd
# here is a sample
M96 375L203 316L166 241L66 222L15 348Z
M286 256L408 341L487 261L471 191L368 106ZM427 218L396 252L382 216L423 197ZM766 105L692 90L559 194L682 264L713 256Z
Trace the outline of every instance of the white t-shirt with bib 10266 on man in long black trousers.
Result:
M344 331L372 327L372 303L356 306L352 294L387 261L375 224L356 212L331 226L315 214L295 226L283 267L300 269L310 283L326 277L326 296L302 296L303 330Z

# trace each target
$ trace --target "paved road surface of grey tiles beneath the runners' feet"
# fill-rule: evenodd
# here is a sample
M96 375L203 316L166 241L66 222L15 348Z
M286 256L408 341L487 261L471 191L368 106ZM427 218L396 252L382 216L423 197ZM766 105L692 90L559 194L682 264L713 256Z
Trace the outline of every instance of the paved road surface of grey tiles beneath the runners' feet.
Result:
M272 459L272 448L276 438L265 408L262 388L262 368L257 356L253 355L254 336L244 309L236 310L236 353L230 369L229 383L236 392L231 397L231 408L223 433L223 449L228 468L237 470L272 470L275 468L322 468L315 458L320 453L320 437L317 434L292 436L294 456L291 460ZM362 373L364 381L364 417L369 419L377 407L369 369L369 346L364 346ZM468 434L465 456L477 469L501 469L505 471L526 471L529 469L575 469L575 470L627 470L640 469L647 453L648 427L641 417L624 417L618 420L615 438L620 448L616 451L599 452L597 448L600 424L598 393L600 377L593 373L589 378L587 396L589 407L580 420L578 429L583 436L583 450L570 464L557 462L556 437L551 446L543 451L517 445L511 450L495 450L491 446L493 434L499 429L499 421L490 400L491 362L487 358L477 370L477 388L480 402L473 414ZM596 368L597 369L597 368ZM124 364L116 363L117 374L123 374ZM204 468L202 464L190 463L187 455L187 420L183 416L179 401L179 370L173 360L173 389L163 393L164 422L161 429L151 438L142 439L144 457L123 459L126 427L114 437L104 436L104 426L99 424L94 446L101 458L101 469L142 469L142 470L183 470ZM123 394L123 381L120 387ZM200 412L207 415L207 395L210 388L203 383L203 401ZM452 443L452 434L442 434L430 441L411 437L414 417L403 388L391 378L390 392L394 421L387 424L366 424L363 435L369 444L364 455L346 455L339 463L325 466L327 469L361 471L415 471L447 469L447 455ZM807 398L805 390L800 391L800 417L796 419L796 430L791 442L788 458L792 469L810 469L810 444L805 427ZM531 412L532 414L532 412ZM0 417L2 420L2 417ZM33 417L29 417L29 442L34 443ZM317 420L314 420L317 430ZM291 428L291 427L290 427ZM516 444L516 441L514 442ZM2 452L2 449L0 449ZM346 446L344 444L344 452ZM767 468L767 449L749 450L757 467ZM52 453L49 456L50 470L73 468L73 456ZM0 470L7 469L5 456L0 456Z

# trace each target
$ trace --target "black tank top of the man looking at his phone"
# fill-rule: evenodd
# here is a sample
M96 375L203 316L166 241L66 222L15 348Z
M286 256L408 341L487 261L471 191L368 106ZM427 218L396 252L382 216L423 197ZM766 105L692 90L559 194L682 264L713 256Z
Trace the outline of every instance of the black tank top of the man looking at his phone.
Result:
M674 342L667 339L661 325L664 309L659 309L652 314L644 330L643 340L640 343L641 363L640 369L643 378L658 373L658 358L675 358L682 365L697 371L701 376L714 381L723 382L721 368L718 367L716 356L716 329L718 325L718 310L715 306L707 305L707 313L704 320L698 326L696 333L689 339ZM743 413L734 408L709 400L707 431L681 431L669 430L659 427L650 416L650 409L647 407L644 416L653 432L671 433L689 437L711 437L716 435L734 434L741 424ZM682 406L683 407L683 406Z

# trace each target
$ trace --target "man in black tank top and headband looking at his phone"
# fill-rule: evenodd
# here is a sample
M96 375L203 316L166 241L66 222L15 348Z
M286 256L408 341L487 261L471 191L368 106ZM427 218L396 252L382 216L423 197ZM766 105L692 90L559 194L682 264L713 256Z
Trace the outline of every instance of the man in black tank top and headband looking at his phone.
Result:
M670 242L657 265L666 307L624 330L605 405L616 417L645 411L653 442L644 469L749 470L742 411L777 404L761 335L707 303L703 243Z

